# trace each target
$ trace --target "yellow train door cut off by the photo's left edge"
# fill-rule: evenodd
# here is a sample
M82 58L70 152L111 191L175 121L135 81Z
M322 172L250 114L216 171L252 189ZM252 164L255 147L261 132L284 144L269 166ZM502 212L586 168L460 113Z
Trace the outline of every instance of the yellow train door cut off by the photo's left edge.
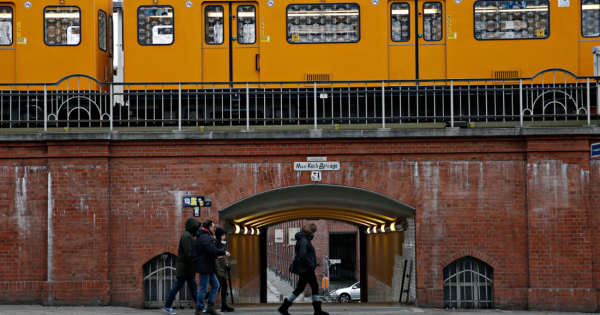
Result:
M0 2L0 82L14 83L17 81L17 40L14 35L19 29L15 29L17 23L14 21L14 5L12 3ZM19 35L20 37L20 35Z

